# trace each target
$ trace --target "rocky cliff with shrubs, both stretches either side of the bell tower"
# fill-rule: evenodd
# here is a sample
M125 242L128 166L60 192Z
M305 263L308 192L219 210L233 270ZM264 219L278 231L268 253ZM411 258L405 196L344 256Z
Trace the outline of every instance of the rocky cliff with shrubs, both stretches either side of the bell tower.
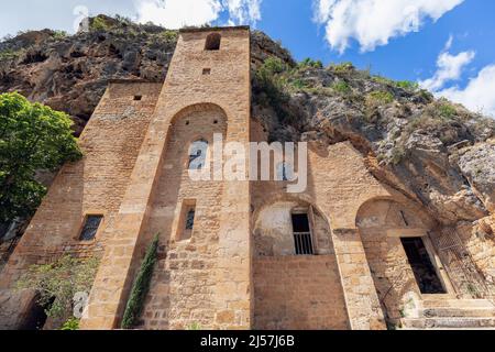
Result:
M101 15L89 22L89 32L72 36L44 30L0 43L0 91L66 111L79 133L109 79L165 78L177 32ZM351 64L297 64L262 32L251 47L252 116L271 140L351 141L376 178L441 223L490 219L494 120ZM270 57L283 67L260 75Z

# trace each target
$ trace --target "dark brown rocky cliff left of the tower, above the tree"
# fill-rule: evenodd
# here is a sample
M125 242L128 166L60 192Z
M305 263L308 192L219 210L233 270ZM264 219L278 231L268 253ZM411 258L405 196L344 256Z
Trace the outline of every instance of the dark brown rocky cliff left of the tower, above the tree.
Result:
M0 91L19 91L70 114L80 133L109 79L163 81L177 33L98 16L90 31L29 32L0 44Z

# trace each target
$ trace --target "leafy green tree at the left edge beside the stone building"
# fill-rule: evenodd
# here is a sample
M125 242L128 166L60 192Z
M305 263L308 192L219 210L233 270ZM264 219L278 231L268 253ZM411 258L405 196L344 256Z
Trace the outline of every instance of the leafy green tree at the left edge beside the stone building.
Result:
M36 210L46 194L36 170L54 172L81 157L72 124L66 113L16 92L0 95L0 222Z

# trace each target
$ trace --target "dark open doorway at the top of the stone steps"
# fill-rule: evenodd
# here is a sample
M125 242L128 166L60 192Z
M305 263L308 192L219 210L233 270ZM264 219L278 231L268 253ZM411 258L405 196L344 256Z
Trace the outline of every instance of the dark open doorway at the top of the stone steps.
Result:
M421 238L400 239L416 282L424 295L447 294Z

